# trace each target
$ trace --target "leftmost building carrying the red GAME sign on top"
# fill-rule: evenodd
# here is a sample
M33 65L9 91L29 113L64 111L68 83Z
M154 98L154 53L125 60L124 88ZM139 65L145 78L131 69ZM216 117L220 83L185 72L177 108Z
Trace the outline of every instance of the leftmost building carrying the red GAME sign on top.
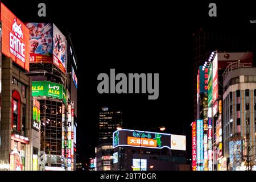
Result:
M31 111L29 31L1 3L0 23L0 162L1 170L24 171L37 168L40 142L33 138ZM20 48L21 47L21 48Z

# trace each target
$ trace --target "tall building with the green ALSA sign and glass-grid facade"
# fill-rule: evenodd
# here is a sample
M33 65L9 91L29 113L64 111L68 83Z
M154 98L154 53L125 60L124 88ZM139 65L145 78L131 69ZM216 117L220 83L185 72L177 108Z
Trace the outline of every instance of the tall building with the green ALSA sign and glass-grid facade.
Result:
M53 23L26 26L31 45L27 74L32 77L33 110L40 113L33 122L38 122L40 154L45 156L40 169L75 170L77 60L71 37Z

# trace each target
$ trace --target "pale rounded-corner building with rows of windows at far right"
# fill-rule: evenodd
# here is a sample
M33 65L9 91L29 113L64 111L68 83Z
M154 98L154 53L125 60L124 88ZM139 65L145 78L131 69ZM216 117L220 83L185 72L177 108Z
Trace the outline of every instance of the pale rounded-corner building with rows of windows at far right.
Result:
M237 62L224 75L224 158L229 170L245 170L246 160L256 166L256 68Z

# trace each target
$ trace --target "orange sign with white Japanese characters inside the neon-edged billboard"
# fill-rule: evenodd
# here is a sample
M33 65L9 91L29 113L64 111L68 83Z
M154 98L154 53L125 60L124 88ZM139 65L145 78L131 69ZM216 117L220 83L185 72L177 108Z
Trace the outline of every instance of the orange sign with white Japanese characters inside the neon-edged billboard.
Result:
M157 141L148 138L128 137L127 144L129 144L130 146L156 147Z

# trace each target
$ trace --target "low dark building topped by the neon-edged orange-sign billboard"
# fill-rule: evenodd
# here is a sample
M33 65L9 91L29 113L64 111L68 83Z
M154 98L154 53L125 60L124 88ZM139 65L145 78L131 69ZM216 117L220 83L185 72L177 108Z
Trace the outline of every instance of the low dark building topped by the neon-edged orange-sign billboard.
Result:
M185 136L137 130L113 133L114 171L189 171Z

